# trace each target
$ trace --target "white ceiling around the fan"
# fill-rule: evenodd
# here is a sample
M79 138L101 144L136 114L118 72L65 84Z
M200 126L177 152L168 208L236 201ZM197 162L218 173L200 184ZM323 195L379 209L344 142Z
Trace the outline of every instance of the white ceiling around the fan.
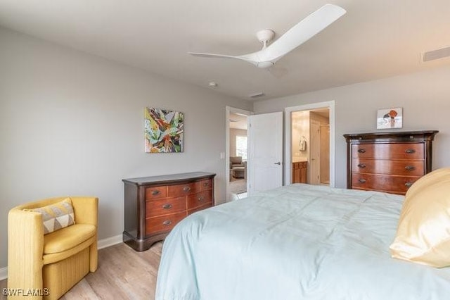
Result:
M260 49L258 30L276 38L323 4L347 13L276 63L240 55ZM450 0L1 0L0 26L165 77L250 99L271 99L450 64L420 63L423 51L450 46ZM1 42L1 41L0 41Z

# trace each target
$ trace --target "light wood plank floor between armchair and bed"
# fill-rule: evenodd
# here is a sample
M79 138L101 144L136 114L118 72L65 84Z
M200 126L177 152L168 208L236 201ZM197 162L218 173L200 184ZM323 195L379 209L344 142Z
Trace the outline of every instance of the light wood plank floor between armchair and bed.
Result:
M162 242L143 252L123 243L98 250L96 272L86 275L60 299L155 299L161 249ZM3 287L6 280L0 281L0 291Z

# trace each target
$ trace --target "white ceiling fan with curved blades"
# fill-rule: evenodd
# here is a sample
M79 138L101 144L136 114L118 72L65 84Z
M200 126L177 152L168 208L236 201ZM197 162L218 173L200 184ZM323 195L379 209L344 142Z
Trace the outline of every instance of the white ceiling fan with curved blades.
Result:
M269 68L274 65L278 59L282 58L290 51L293 51L297 46L307 42L308 39L317 35L346 12L347 11L340 6L326 4L301 20L297 25L290 28L288 32L285 32L284 35L269 46L267 46L267 44L274 38L274 31L268 29L260 30L256 35L259 42L262 42L262 50L250 54L239 56L198 52L188 52L188 54L210 58L240 59L241 61L252 63L258 68Z

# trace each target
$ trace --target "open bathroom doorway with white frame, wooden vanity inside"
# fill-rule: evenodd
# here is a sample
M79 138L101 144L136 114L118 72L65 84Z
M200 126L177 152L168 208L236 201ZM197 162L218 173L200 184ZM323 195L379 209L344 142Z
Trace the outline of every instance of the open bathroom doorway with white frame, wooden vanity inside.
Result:
M285 185L334 187L334 101L285 108Z

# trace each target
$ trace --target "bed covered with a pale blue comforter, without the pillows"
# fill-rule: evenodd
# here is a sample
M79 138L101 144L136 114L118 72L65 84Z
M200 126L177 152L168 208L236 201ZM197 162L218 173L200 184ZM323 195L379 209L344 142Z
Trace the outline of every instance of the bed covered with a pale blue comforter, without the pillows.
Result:
M390 254L404 196L295 184L190 215L157 300L450 299L450 268Z

